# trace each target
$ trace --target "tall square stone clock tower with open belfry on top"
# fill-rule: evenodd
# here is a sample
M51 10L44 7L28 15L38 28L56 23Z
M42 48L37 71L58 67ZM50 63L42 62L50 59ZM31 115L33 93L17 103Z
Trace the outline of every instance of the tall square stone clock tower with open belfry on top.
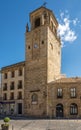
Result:
M53 12L40 7L30 13L31 29L26 28L24 113L46 116L47 85L59 78L61 44L58 22Z

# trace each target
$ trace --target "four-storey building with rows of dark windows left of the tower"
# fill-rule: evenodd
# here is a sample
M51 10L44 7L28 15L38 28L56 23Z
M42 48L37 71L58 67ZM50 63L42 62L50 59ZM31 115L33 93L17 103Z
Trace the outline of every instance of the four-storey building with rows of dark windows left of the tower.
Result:
M1 70L2 101L0 104L3 115L23 114L24 65L25 62L21 62L3 67Z

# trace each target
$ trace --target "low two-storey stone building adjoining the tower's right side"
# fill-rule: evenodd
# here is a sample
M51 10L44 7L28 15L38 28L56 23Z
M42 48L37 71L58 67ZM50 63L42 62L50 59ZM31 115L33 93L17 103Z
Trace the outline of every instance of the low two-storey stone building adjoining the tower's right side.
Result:
M48 115L81 118L81 78L62 78L48 84Z

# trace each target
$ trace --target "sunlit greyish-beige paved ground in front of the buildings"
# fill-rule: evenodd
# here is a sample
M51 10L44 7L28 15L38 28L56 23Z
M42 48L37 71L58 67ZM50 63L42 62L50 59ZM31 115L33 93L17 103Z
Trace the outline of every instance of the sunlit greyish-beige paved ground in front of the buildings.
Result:
M81 120L15 119L10 121L9 130L81 130Z

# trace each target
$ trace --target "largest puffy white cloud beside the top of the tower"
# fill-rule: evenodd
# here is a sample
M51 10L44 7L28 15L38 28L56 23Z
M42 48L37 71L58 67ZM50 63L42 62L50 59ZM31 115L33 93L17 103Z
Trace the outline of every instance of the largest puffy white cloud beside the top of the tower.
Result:
M67 13L67 15L65 14ZM59 27L58 27L58 35L61 37L62 44L65 42L72 43L77 39L77 35L75 31L72 29L72 26L77 25L79 22L78 18L74 20L70 20L68 11L60 13Z

